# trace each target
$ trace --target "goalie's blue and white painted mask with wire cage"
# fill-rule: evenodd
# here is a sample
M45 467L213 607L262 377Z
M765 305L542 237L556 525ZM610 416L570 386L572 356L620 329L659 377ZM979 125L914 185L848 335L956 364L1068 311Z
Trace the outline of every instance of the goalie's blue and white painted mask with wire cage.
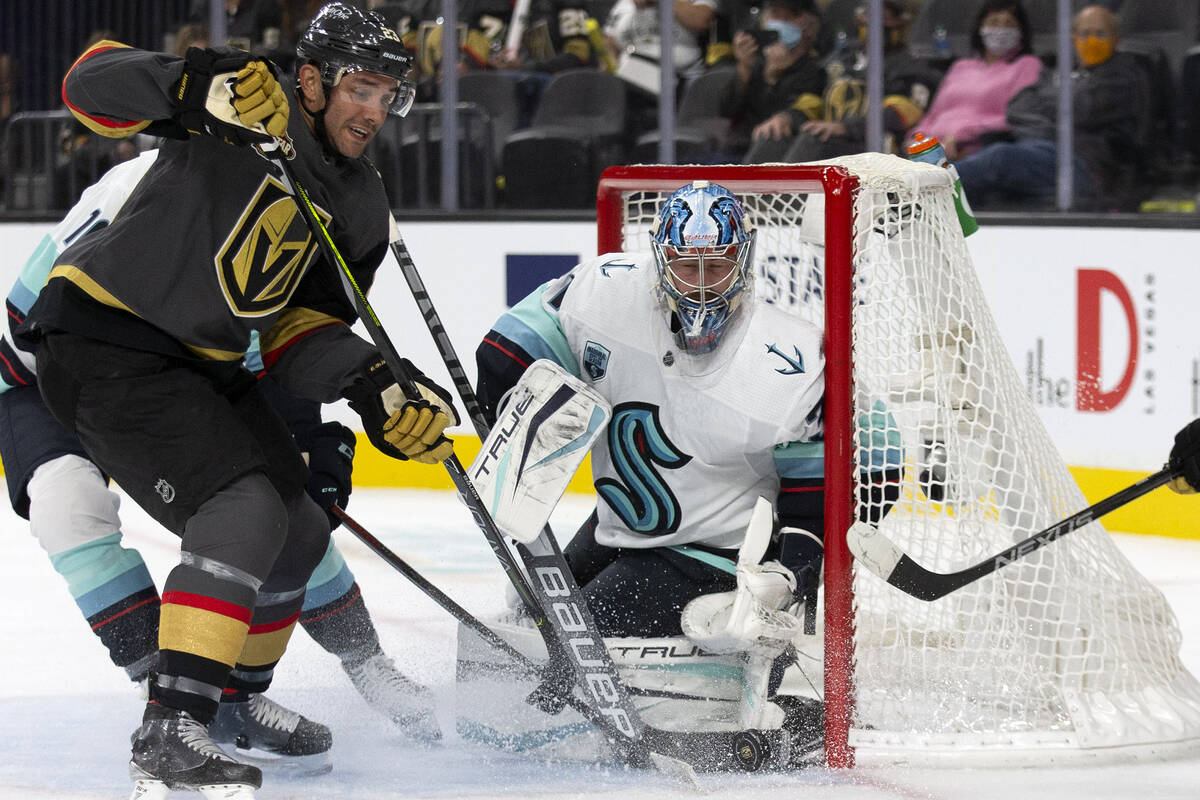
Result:
M688 353L710 353L752 294L754 231L722 186L695 181L676 191L650 229L658 293L667 324Z

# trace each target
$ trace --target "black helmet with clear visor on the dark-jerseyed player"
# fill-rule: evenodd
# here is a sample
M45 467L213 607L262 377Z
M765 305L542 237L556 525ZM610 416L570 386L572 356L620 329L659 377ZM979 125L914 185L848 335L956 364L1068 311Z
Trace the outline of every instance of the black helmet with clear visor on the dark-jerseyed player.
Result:
M416 88L409 79L413 54L374 12L348 2L328 2L308 24L296 44L300 64L316 64L328 92L349 72L374 72L400 82L390 113L403 116L413 106Z

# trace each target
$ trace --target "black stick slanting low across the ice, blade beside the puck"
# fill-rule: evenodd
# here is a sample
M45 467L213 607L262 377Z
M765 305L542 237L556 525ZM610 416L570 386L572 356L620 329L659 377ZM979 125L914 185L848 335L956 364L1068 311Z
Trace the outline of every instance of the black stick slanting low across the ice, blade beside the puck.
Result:
M421 593L424 593L443 609L449 612L451 616L474 631L486 644L490 644L508 656L512 661L514 666L521 669L522 673L534 680L541 680L545 676L545 670L540 664L505 642L498 633L496 633L496 631L490 628L478 616L438 589L412 565L392 552L386 545L380 542L373 534L371 534L371 531L352 518L343 509L335 505L332 506L332 513L335 517L341 519L342 524L344 524L346 528L376 555L380 557L397 572L408 578L413 585L420 589ZM566 705L577 711L584 720L588 720L593 724L601 728L605 726L605 720L598 718L596 711L580 698L574 694L566 694L565 702ZM677 758L688 765L703 771L720 771L733 768L746 769L749 766L749 764L742 764L739 762L739 753L742 752L740 739L745 738L748 732L713 730L685 733L662 730L660 728L646 726L643 734L648 746L656 753L664 753L672 758ZM772 753L784 752L782 738L786 735L785 730L757 730L751 735L766 736L768 748Z

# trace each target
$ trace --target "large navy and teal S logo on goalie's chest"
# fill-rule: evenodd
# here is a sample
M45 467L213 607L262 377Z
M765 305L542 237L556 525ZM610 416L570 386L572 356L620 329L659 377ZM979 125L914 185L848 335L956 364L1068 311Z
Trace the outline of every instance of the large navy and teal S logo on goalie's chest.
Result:
M608 452L620 481L601 477L596 491L625 527L640 534L673 534L683 516L679 500L654 468L679 469L691 456L667 439L659 408L618 403L608 423Z

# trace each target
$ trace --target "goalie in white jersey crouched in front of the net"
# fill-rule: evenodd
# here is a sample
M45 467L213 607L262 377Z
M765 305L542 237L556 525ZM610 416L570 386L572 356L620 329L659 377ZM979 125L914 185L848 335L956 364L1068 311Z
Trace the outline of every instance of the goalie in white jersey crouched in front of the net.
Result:
M689 601L733 590L760 497L792 589L815 597L821 570L822 331L756 299L755 233L724 187L674 192L652 239L540 287L476 353L493 420L536 359L612 404L592 451L599 524L565 551L605 636L678 636Z

